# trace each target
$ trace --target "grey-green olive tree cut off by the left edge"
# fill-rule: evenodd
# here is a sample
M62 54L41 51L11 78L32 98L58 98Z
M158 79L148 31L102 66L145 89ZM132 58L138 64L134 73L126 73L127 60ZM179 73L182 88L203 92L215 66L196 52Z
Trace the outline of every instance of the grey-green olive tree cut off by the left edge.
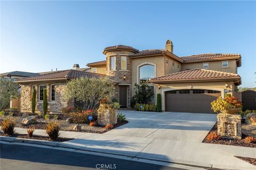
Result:
M9 106L10 101L19 97L19 85L10 79L0 78L0 111Z

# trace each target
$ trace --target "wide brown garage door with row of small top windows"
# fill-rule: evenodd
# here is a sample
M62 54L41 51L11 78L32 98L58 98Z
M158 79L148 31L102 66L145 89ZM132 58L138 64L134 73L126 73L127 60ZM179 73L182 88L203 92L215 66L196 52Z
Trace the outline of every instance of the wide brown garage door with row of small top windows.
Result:
M215 90L173 90L165 92L165 111L213 113L211 102L221 96Z

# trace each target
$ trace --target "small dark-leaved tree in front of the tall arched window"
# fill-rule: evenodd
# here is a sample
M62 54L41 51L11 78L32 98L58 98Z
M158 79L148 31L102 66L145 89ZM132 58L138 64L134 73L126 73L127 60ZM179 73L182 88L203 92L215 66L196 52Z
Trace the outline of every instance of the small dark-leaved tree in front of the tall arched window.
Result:
M147 83L134 84L135 95L134 99L137 103L147 104L153 96L153 91L148 88Z

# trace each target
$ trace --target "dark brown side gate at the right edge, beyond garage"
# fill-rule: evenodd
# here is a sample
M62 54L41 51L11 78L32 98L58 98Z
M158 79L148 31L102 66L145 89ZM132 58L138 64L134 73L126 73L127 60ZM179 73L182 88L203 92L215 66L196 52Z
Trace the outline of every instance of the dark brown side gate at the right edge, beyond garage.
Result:
M243 111L256 109L256 91L246 90L242 92Z

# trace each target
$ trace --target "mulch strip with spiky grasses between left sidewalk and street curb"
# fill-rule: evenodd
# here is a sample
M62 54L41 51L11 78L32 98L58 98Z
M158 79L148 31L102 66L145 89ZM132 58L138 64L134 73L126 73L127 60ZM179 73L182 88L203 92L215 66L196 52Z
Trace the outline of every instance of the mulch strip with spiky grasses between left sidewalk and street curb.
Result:
M58 138L56 140L51 140L49 137L41 136L41 135L33 135L33 137L28 137L27 134L17 134L13 135L5 135L4 133L0 133L1 136L6 137L15 137L15 138L23 138L23 139L36 139L36 140L46 140L46 141L54 141L54 142L65 142L68 140L73 140L74 138Z

